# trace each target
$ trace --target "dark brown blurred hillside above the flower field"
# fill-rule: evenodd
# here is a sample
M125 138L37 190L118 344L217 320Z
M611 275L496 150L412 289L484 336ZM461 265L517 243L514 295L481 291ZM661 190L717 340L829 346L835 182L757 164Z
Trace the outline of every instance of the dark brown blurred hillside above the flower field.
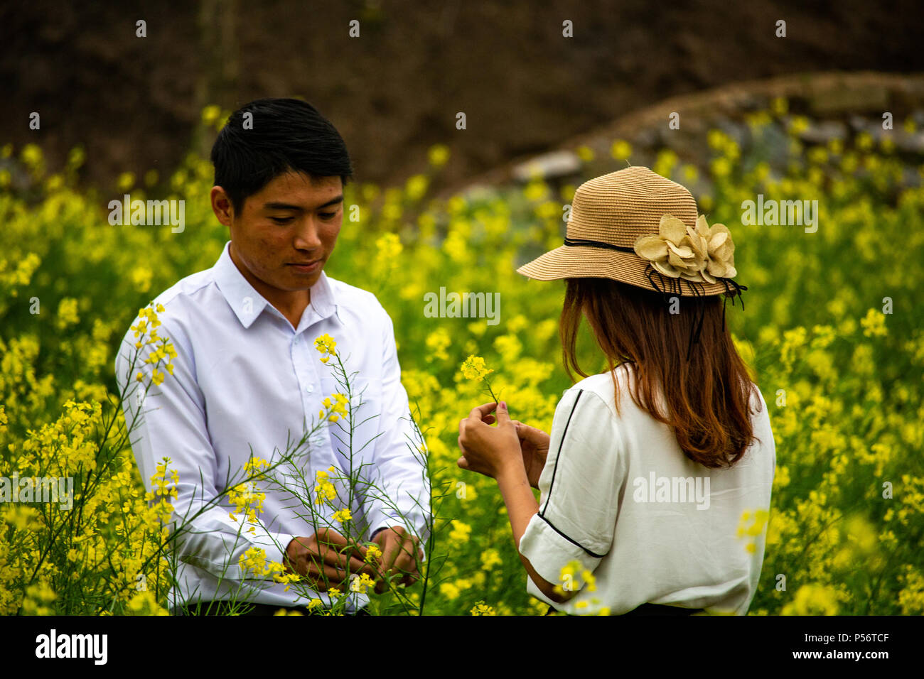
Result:
M194 139L205 104L297 95L340 130L358 179L400 181L441 142L454 159L443 181L456 184L686 92L805 71L920 71L921 14L908 1L10 3L2 140L41 145L52 169L82 143L81 178L111 188L121 172L167 176L190 143L206 148ZM786 38L774 36L778 19ZM459 111L467 130L455 128Z

